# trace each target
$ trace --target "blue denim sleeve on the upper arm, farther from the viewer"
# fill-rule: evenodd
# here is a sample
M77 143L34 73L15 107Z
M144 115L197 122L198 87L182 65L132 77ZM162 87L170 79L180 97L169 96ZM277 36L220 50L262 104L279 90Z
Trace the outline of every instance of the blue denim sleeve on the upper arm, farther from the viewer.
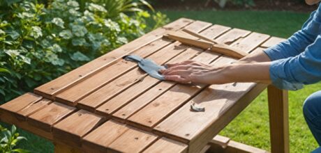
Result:
M265 54L269 56L271 61L276 61L283 58L293 57L300 54L308 45L315 40L320 34L320 6L318 10L311 13L310 17L302 26L302 29L294 33L288 40L264 49Z

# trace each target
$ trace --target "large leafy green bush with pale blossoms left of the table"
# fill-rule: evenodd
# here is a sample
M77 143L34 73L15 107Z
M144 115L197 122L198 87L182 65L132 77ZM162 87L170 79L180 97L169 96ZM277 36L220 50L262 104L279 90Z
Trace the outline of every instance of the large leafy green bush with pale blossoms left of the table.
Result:
M166 20L141 5L131 6L136 8L131 13L112 13L100 2L85 3L83 10L73 0L5 6L10 11L0 12L0 102L143 35L154 27L147 26L147 20L156 26Z

